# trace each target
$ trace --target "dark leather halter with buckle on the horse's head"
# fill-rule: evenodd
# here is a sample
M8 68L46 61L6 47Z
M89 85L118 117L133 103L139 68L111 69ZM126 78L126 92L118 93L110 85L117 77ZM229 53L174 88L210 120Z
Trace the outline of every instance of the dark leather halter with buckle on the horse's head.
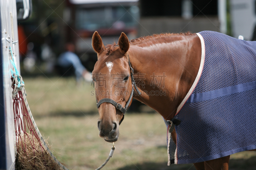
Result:
M118 46L118 45L116 45L116 46ZM127 55L128 55L128 54L127 54ZM120 111L122 112L123 117L122 117L122 119L120 120L119 125L123 122L123 120L124 120L124 114L125 114L125 112L127 111L127 107L129 106L129 104L130 104L130 102L131 102L131 100L132 100L132 96L134 95L134 88L133 88L133 86L135 87L135 89L136 89L136 91L139 93L139 95L141 94L141 92L139 91L139 89L138 89L138 87L137 87L137 85L136 85L136 83L135 83L135 81L134 81L134 78L133 78L133 68L132 68L131 63L130 63L129 55L128 55L128 63L129 63L129 67L130 67L130 70L131 70L132 92L131 92L131 95L130 95L130 97L129 97L127 103L125 104L125 106L122 107L122 105L121 105L120 103L117 103L117 102L115 102L114 100L109 99L109 98L101 99L99 102L98 102L98 100L96 99L96 101L97 101L97 108L100 107L100 104L102 104L102 103L104 103L104 102L107 102L107 103L111 103L112 105L114 105L114 106L116 107L117 110L120 110Z

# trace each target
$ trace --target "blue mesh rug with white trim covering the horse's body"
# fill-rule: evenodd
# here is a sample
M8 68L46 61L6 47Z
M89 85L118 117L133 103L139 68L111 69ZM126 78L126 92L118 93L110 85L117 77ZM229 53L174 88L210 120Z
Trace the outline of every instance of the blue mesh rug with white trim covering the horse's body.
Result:
M198 75L167 129L168 165L256 149L256 41L203 31Z

